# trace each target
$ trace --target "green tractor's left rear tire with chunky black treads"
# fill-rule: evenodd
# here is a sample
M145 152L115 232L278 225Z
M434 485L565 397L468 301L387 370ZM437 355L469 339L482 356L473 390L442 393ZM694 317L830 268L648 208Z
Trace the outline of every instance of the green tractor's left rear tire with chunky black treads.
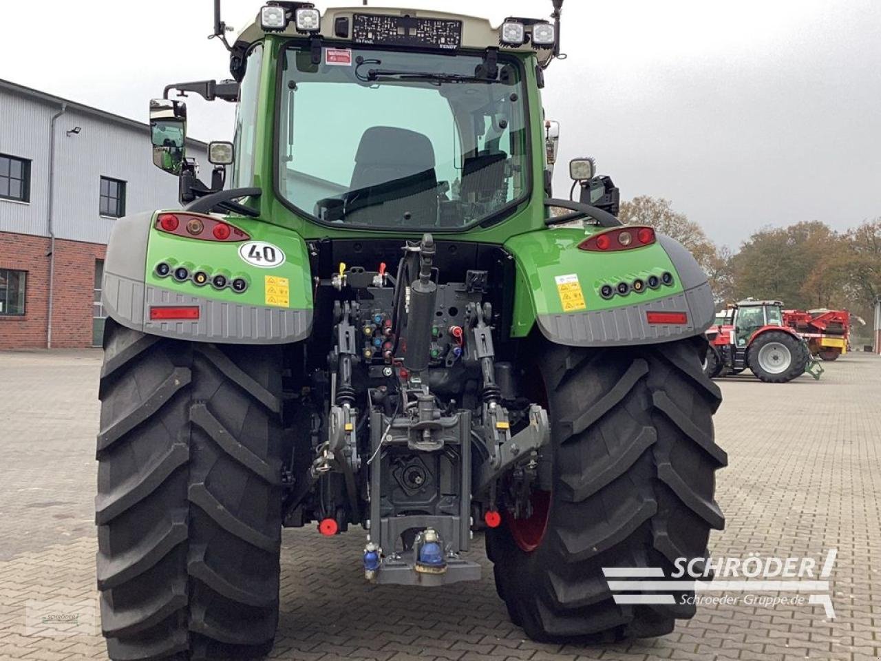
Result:
M278 625L278 347L107 320L98 587L112 659L258 657Z

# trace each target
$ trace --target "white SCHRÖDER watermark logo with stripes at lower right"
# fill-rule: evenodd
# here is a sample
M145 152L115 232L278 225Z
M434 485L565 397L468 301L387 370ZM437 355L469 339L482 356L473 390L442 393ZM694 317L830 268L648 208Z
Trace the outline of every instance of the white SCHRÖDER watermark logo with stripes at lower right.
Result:
M670 576L661 567L603 567L603 575L616 604L822 605L833 620L828 578L837 555L838 549L830 549L822 563L808 556L756 553L746 558L677 558ZM733 594L705 594L710 592Z

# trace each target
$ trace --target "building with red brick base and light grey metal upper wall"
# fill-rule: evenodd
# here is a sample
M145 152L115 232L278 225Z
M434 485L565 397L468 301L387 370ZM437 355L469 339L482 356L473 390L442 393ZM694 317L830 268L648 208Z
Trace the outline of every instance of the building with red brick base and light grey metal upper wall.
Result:
M0 349L100 345L114 219L179 206L150 150L145 123L0 80Z

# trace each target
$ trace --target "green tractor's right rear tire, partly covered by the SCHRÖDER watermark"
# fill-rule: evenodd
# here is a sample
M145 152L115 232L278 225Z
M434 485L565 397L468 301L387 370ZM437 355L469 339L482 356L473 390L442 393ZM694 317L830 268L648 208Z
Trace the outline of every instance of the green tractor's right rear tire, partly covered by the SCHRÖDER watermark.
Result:
M511 519L487 531L496 587L512 620L544 642L611 642L670 633L676 605L619 605L603 567L706 558L724 517L714 472L718 387L701 369L704 338L608 349L538 350L552 424L552 491L544 537L518 545Z

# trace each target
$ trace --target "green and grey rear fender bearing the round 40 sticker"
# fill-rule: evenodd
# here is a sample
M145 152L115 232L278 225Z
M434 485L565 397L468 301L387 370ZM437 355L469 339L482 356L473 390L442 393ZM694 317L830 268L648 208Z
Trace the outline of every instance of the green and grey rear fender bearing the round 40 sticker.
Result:
M239 244L199 241L160 233L152 228L156 212L118 219L107 244L101 299L107 316L130 329L152 335L196 342L267 345L296 342L309 336L312 327L312 289L305 242L289 230L254 219L230 219L252 239L284 247L285 263L259 269L242 261ZM220 217L217 217L221 219ZM226 219L224 219L226 220ZM251 282L241 296L211 285L157 278L159 260L181 255L196 264L210 264L223 272L241 272ZM287 305L266 305L264 281L287 283ZM275 282L276 280L272 280ZM268 291L268 286L266 286ZM266 298L269 298L267 293ZM196 320L151 320L150 308L199 308Z

